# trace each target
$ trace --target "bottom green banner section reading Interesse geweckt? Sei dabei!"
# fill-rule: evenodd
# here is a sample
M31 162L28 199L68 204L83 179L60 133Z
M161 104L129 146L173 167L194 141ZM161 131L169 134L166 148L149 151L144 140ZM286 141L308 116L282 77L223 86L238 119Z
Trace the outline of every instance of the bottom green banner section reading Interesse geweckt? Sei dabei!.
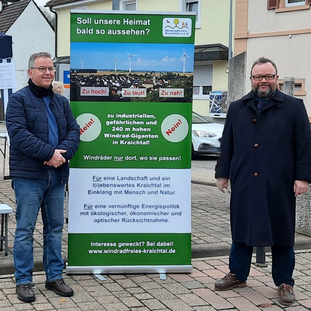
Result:
M82 250L79 256L75 245ZM90 262L96 266L184 265L191 263L191 235L70 234L68 253L73 266L89 266Z

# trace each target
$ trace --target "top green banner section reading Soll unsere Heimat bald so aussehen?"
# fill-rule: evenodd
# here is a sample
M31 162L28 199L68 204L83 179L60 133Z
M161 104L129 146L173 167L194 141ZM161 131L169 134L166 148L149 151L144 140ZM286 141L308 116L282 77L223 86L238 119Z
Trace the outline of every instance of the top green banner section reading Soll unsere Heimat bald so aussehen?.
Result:
M85 12L71 14L71 42L194 44L195 16L151 15L137 14L137 12L127 14ZM164 21L165 18L169 22ZM188 19L192 21L191 26ZM166 27L164 31L171 31L176 35L163 36L163 23Z

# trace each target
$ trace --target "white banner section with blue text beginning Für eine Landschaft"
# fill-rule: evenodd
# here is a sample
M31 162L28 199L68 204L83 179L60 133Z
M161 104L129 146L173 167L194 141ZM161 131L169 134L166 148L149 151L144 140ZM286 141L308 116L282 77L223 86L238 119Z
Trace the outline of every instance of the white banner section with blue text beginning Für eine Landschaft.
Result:
M68 232L190 233L190 180L191 169L71 169Z

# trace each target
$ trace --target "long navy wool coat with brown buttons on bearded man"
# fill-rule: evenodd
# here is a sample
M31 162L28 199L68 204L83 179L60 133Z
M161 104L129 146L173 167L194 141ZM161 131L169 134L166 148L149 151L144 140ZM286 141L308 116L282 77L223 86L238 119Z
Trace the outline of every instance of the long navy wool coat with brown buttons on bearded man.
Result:
M217 177L231 182L234 242L293 246L294 181L311 182L311 133L303 101L277 90L260 114L251 93L232 102Z

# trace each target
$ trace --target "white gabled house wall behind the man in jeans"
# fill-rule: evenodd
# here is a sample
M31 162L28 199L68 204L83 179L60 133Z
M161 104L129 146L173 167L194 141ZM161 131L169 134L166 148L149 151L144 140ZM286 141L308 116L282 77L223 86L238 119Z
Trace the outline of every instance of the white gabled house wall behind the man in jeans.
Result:
M27 69L31 54L48 52L54 58L55 35L33 2L28 4L6 35L12 36L13 41L13 62L16 69L16 89L13 92L16 92L28 85Z

